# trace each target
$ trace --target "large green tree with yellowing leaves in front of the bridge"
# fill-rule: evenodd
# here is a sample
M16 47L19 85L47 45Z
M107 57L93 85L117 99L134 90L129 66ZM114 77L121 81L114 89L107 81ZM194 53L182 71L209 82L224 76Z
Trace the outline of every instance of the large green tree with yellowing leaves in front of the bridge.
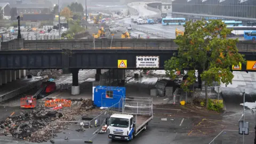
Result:
M179 46L178 54L165 61L166 74L175 78L175 70L188 70L187 78L181 84L182 89L188 91L188 87L196 82L195 70L198 70L199 85L201 79L205 82L205 106L208 108L207 86L213 82L230 84L234 77L230 67L245 61L236 47L238 39L226 38L231 30L222 21L189 21L184 27L184 35L174 40Z

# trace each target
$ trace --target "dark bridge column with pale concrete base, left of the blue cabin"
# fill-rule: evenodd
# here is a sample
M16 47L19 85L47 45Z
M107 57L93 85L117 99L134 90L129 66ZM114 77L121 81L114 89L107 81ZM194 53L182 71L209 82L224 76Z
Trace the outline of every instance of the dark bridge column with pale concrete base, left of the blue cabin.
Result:
M71 73L72 73L71 94L72 95L77 95L80 93L80 86L78 85L78 71L79 69L71 69Z

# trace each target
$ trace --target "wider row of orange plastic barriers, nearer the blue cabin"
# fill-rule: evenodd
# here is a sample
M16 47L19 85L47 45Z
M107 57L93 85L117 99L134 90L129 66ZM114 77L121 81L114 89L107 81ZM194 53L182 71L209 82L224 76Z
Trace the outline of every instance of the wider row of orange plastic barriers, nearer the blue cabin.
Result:
M44 102L45 107L71 107L71 100L66 99L54 99L46 100Z

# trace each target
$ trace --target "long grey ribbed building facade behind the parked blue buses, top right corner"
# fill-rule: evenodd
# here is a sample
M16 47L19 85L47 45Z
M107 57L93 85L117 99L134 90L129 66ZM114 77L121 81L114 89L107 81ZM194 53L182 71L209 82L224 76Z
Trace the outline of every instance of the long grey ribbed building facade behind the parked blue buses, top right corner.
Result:
M255 0L174 0L173 12L256 18Z

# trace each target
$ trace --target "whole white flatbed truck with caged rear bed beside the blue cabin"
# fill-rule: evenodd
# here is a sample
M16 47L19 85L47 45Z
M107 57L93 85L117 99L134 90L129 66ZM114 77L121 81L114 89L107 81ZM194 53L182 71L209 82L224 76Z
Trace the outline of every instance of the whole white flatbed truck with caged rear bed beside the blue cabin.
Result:
M153 119L151 98L147 98L147 100L130 99L132 101L128 99L125 99L123 111L129 111L129 113L114 113L107 119L109 139L132 140L142 130L146 130L148 123ZM145 103L147 104L145 105Z

